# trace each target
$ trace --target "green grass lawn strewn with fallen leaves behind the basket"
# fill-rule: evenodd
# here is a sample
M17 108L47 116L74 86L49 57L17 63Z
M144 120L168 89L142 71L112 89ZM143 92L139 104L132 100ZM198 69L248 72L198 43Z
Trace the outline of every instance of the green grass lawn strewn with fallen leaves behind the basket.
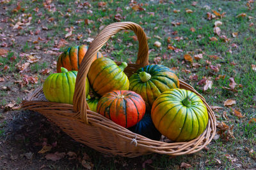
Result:
M0 57L0 77L11 76L13 80L1 85L19 90L42 86L47 77L42 71L47 68L51 69L50 73L55 71L56 65L52 63L58 59L58 52L63 52L68 46L90 45L88 38L95 38L104 26L113 22L136 22L148 36L150 64L163 64L175 69L180 80L192 85L209 105L222 107L215 110L218 132L221 122L228 125L227 131L218 134L220 138L216 136L205 150L174 158L145 155L139 158L141 164L152 159L148 164L152 169L179 169L182 162L191 164L191 169L255 168L256 123L250 120L256 118L256 2L195 2L38 0L22 1L17 8L16 1L1 1L2 16L6 22L2 21L0 25L0 43L7 42L7 46L2 46L9 52ZM216 21L221 24L215 26ZM22 24L13 29L18 22ZM220 32L214 32L214 26ZM72 36L65 38L70 29ZM3 34L6 39L3 39ZM138 41L134 41L133 36L132 31L118 32L100 51L117 61L135 62ZM60 39L65 39L66 44L60 45ZM154 46L156 41L161 46ZM51 55L51 52L57 54ZM40 59L29 65L29 71L20 74L17 64L26 62L26 57L22 57L24 53ZM192 62L184 59L185 54L191 56ZM202 54L202 59L195 57L198 54ZM2 69L4 66L8 68ZM38 83L29 81L20 87L15 81L22 80L24 74L36 75ZM232 78L233 85L236 83L234 88L230 84ZM204 90L205 84L198 84L203 79L211 81L212 87ZM19 98L13 96L16 103L20 103L26 94L22 95ZM6 90L0 89L0 97L3 98L1 106L10 103ZM224 106L227 99L236 101L236 104ZM234 110L243 117L237 117ZM0 129L2 134L4 132ZM118 169L116 160L131 164L134 160L115 157L105 165L101 163L105 158L97 157L97 154L88 153L93 158L95 169ZM141 168L139 164L128 167L135 169L136 166Z

